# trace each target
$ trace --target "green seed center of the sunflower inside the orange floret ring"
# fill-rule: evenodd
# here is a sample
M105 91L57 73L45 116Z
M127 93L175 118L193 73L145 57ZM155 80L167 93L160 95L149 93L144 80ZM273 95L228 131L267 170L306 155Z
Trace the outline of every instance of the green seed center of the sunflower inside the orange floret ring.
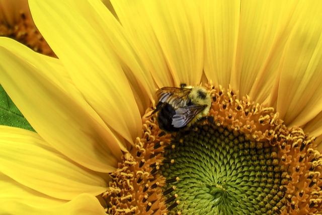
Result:
M164 157L174 163L160 168L167 179L180 179L164 188L176 187L167 195L177 196L169 214L275 214L282 206L278 148L268 142L209 124L178 133L172 145Z

